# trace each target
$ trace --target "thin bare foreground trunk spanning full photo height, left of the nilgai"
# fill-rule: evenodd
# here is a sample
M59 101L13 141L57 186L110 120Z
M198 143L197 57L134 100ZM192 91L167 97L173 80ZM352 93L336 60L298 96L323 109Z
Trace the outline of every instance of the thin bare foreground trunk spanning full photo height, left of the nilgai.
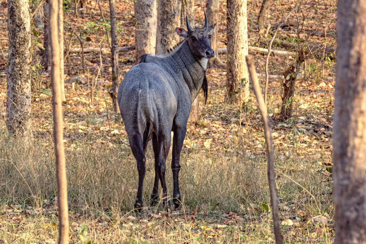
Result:
M67 204L67 180L66 164L63 142L63 116L61 101L60 80L60 36L57 34L57 12L59 11L57 0L49 0L49 33L52 52L51 82L53 98L53 137L55 139L57 196L59 204L59 244L68 243L68 204Z

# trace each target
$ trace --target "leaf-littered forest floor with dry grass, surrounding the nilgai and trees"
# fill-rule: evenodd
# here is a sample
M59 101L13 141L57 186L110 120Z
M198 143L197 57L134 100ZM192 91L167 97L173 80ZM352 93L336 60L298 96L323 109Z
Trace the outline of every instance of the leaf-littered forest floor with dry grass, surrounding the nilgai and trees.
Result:
M42 4L33 1L32 126L33 143L11 138L5 126L7 83L7 5L0 0L0 243L56 243L55 157L52 104L48 70L40 65L43 42ZM78 10L65 2L65 46L107 48L108 24L95 0ZM106 19L108 1L100 2ZM195 1L196 23L204 21L205 1ZM249 44L258 45L255 27L260 1L248 1ZM267 22L276 27L296 1L277 1L268 8ZM95 7L96 6L96 7ZM116 1L119 46L134 45L134 8ZM309 7L309 6L308 6ZM221 3L218 48L226 42L226 5ZM307 12L306 12L307 11ZM309 41L335 46L336 1L303 10L304 31L295 35L294 14L279 38L298 44ZM39 14L40 13L40 14ZM296 25L295 25L296 26ZM72 34L74 30L74 34ZM269 31L273 34L274 29ZM311 33L311 34L310 34ZM314 34L315 33L315 34ZM70 41L71 40L71 41ZM273 47L278 49L278 47ZM294 56L296 53L294 53ZM226 62L227 56L220 58ZM255 55L257 72L264 74L265 55ZM120 80L134 65L134 50L119 53ZM209 96L200 106L201 118L189 123L181 154L180 190L183 207L163 211L150 207L154 180L151 145L146 152L143 200L146 208L133 211L138 173L120 116L112 112L111 56L79 53L65 57L65 80L79 76L82 83L65 83L64 138L70 208L70 243L273 243L272 216L266 175L262 123L253 95L244 104L227 104L226 71L207 71ZM102 62L101 62L102 61ZM286 243L326 243L334 239L332 199L332 122L335 62L307 60L296 81L294 112L281 122L283 72L293 60L270 57L268 112L273 126L275 169L281 228ZM99 72L100 70L100 72ZM304 72L305 71L305 72ZM261 79L261 85L263 85ZM202 98L202 94L200 94ZM201 100L202 101L202 100ZM167 162L171 160L171 154ZM168 164L169 165L169 164ZM170 166L168 166L168 169ZM168 192L172 173L167 171Z

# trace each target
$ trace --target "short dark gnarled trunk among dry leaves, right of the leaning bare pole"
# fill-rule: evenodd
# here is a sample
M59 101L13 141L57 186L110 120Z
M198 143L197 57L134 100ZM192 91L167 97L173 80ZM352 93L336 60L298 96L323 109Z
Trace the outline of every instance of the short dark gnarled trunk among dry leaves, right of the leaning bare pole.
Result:
M295 70L296 69L296 70ZM295 65L284 72L285 81L283 83L284 91L281 105L281 120L285 121L292 116L292 101L294 100L295 82L297 75L300 71L300 62L296 62Z

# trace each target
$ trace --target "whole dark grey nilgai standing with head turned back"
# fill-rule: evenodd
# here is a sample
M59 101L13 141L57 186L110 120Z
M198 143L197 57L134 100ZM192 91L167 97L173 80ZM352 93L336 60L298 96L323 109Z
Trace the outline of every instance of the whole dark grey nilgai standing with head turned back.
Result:
M172 172L173 203L178 208L180 192L178 174L180 151L187 132L191 104L202 88L207 99L206 65L215 53L211 49L211 34L216 24L209 26L205 13L203 28L193 29L186 18L187 30L175 28L184 40L170 53L145 54L139 64L124 76L117 101L139 174L135 208L141 208L142 185L145 177L145 149L152 138L155 157L155 181L152 205L158 202L158 184L163 188L163 204L170 207L165 183L171 131L173 131Z

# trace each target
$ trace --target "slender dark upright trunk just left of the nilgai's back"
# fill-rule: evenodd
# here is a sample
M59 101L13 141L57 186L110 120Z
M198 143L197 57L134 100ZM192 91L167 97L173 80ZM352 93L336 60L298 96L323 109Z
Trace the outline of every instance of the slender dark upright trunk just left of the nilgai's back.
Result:
M109 11L111 12L111 41L112 41L112 102L113 111L119 112L117 103L117 91L118 91L118 44L117 44L117 18L116 18L116 5L115 0L109 0Z

